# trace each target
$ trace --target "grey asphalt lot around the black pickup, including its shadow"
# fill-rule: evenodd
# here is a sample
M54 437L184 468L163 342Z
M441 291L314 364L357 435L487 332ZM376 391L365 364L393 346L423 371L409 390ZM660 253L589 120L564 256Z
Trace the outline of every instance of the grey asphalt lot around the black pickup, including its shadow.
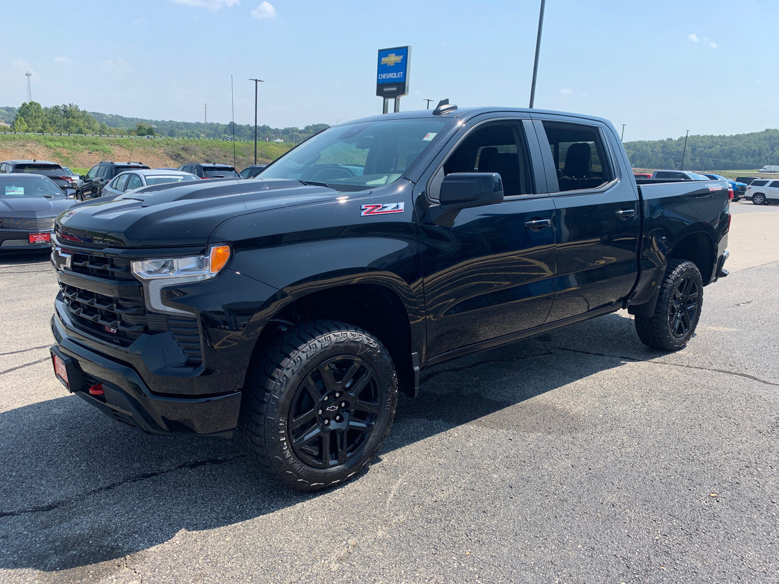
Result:
M430 368L319 494L69 395L47 257L0 258L0 582L779 582L779 207L731 209L685 350L620 311Z

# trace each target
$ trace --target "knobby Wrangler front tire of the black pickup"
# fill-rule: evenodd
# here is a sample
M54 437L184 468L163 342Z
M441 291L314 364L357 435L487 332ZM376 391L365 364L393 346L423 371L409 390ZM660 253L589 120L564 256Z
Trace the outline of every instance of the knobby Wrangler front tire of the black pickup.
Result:
M320 385L325 386L324 376L319 377L323 368L333 371L333 378L329 380L332 382L339 372L338 363L353 363L356 368L358 362L361 363L361 368L355 370L354 377L358 374L366 375L369 368L373 375L368 383L372 384L373 389L370 391L375 392L376 413L358 414L374 420L371 433L367 438L363 438L359 449L348 454L345 449L340 449L340 444L342 440L346 441L344 444L347 443L350 430L334 428L334 418L328 420L329 429L323 426L323 410L320 409L319 416L315 416L313 420L315 429L320 432L319 438L315 438L319 459L315 456L305 459L308 455L300 452L301 447L293 447L293 433L296 431L294 408L300 403L298 396L303 395L301 392L308 391L306 388L310 387L312 378L320 379ZM342 381L346 377L347 374L344 374ZM348 383L344 383L344 387L348 388ZM359 384L360 379L354 382L352 389ZM326 388L316 391L319 392L320 399L324 399L321 396L327 395ZM358 390L357 395L365 396L360 393L362 391L364 390ZM271 477L298 491L319 491L350 480L368 466L390 433L397 408L397 392L397 375L392 358L379 340L345 322L304 322L286 331L279 331L277 336L252 357L241 399L238 431L249 456ZM337 403L340 406L340 399L332 399L333 395L330 395L331 399L326 403L329 407ZM345 395L342 394L342 399ZM312 394L309 393L308 396L311 401ZM364 402L354 397L353 403ZM338 410L337 413L343 416L341 424L344 424L344 419L349 424L358 420L354 417L354 412L351 412L352 417L347 410ZM312 415L312 411L309 411L309 415ZM325 417L329 415L336 413L324 412ZM334 435L339 433L340 435ZM320 440L322 442L319 442ZM325 440L328 441L327 466L323 462ZM331 452L333 443L337 448L334 453ZM344 463L338 461L341 455L345 459ZM331 456L336 459L331 461ZM351 458L347 459L346 456ZM319 466L316 466L317 462ZM329 466L331 464L332 466Z

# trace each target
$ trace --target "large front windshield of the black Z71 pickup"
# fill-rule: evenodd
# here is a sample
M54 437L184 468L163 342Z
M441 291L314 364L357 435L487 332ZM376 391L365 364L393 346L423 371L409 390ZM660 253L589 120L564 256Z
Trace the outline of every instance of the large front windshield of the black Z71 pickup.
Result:
M333 126L280 157L258 178L321 182L346 191L389 185L403 176L445 123L417 119Z

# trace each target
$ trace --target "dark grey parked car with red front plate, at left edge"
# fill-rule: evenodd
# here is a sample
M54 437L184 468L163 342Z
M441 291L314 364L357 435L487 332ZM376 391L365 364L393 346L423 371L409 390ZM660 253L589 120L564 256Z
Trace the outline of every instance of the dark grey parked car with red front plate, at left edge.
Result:
M0 174L0 250L50 248L55 217L74 203L47 176Z

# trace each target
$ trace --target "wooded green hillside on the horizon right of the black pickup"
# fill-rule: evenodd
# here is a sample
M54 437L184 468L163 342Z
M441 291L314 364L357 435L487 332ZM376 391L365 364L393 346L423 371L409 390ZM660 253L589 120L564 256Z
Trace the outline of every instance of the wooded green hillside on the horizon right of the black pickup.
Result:
M691 135L664 140L625 142L635 168L668 168L685 171L746 170L779 164L779 130L735 135ZM682 169L682 156L684 168Z

